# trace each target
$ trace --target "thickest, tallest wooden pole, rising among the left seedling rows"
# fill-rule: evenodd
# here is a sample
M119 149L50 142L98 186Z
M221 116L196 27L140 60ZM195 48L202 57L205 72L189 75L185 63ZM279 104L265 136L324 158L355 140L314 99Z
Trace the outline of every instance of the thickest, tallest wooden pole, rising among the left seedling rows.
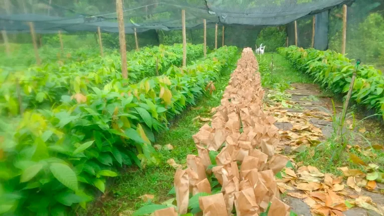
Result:
M125 45L125 27L123 17L123 3L121 0L116 0L117 20L119 22L119 42L120 42L120 56L121 56L121 73L124 79L128 79L127 71L127 48Z

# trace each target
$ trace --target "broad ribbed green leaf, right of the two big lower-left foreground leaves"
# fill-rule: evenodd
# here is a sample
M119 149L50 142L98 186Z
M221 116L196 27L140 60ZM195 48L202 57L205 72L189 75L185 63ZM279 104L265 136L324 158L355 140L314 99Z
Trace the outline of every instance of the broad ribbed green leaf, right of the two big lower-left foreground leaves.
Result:
M75 191L78 189L76 174L69 166L62 163L52 163L50 169L53 176L62 184Z

